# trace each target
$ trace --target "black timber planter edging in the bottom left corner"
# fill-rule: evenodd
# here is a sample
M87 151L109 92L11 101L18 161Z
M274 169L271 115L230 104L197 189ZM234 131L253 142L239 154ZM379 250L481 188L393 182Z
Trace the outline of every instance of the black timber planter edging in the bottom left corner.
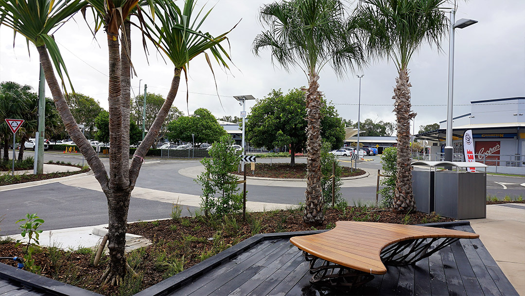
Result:
M62 283L42 275L26 270L18 269L4 263L0 263L0 278L17 282L25 287L34 288L52 295L60 296L102 296L101 294L88 291L74 285Z

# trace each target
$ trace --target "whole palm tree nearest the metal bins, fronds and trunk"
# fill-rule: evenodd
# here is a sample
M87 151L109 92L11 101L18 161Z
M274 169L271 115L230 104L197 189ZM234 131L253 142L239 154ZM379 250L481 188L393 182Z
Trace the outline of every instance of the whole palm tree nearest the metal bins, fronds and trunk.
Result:
M391 58L398 72L394 88L397 124L397 173L393 208L416 210L412 195L410 155L411 110L408 62L423 44L440 48L447 32L448 19L441 10L447 0L362 0L358 26L366 40L367 53L373 58Z

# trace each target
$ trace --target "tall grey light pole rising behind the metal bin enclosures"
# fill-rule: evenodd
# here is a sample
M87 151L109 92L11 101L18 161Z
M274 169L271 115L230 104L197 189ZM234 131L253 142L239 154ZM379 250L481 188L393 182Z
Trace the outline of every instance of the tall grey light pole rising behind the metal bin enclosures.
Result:
M450 43L448 45L448 101L447 101L447 135L445 138L445 161L453 161L454 148L452 147L452 106L454 97L454 29L463 29L478 21L461 18L455 22L455 11L450 11Z

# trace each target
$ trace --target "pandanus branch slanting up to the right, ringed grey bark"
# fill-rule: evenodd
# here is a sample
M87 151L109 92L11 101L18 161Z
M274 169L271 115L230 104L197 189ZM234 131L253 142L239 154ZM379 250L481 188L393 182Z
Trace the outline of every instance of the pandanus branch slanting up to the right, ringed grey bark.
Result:
M181 81L181 70L182 69L180 68L175 68L175 73L173 75L173 79L171 80L170 91L167 93L166 100L164 101L162 108L159 110L159 113L155 117L153 124L148 130L148 134L146 134L140 146L137 148L137 150L135 150L135 154L133 155L130 165L130 190L133 190L133 187L135 186L135 181L137 181L137 177L139 177L139 171L140 167L142 166L143 158L146 155L146 152L148 152L150 149L151 145L153 145L153 142L157 139L159 130L161 129L164 119L166 119L166 116L173 104L173 100L177 95L178 84Z

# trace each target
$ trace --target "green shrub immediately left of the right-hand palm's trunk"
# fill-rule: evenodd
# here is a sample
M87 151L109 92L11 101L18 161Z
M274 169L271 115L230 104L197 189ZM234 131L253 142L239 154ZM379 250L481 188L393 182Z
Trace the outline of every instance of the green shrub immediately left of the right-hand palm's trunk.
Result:
M383 175L386 177L381 180L381 185L383 188L379 190L381 195L381 203L386 208L391 208L394 205L394 191L395 191L395 181L396 181L396 172L397 172L397 148L388 147L383 150L381 155L381 162L383 164Z

